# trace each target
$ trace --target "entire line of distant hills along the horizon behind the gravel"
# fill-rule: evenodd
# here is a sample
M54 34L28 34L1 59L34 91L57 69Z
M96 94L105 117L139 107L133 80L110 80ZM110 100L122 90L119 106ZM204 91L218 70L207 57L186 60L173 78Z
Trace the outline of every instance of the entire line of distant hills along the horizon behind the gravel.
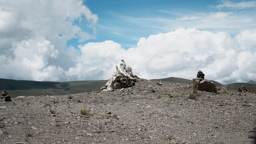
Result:
M155 81L177 82L191 84L192 80L185 78L162 78L153 79ZM250 80L247 83L232 83L222 85L219 82L210 80L217 87L237 90L242 86L246 86L247 90L256 93L256 84ZM41 95L66 95L77 94L82 92L92 92L104 86L107 80L84 80L72 82L38 82L30 80L10 80L0 78L0 91L7 90L11 97L17 96L41 96ZM256 83L256 82L255 82Z

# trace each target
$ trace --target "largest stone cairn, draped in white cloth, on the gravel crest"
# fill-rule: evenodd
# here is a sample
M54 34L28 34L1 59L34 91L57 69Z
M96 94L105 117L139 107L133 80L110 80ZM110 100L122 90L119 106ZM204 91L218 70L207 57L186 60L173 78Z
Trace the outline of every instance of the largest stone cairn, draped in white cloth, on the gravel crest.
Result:
M132 74L132 68L126 66L124 60L121 60L116 66L112 78L108 80L105 86L101 87L101 90L114 90L120 88L128 88L135 85L137 76Z

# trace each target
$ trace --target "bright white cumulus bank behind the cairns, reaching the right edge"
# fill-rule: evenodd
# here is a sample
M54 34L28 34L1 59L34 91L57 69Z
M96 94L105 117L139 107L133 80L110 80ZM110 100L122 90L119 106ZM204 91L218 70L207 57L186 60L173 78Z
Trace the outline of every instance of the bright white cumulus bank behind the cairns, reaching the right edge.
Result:
M134 74L146 79L192 79L202 70L205 78L223 84L240 79L246 82L256 79L256 52L251 51L255 34L255 29L245 30L233 38L226 32L180 28L140 38L137 47L128 50L113 41L90 42L80 46L78 64L66 73L77 78L108 79L123 59Z

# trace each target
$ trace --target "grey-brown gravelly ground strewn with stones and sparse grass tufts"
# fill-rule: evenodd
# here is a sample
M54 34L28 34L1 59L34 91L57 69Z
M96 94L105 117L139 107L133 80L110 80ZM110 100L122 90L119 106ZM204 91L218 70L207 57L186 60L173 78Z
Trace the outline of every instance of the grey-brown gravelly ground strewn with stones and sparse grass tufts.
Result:
M0 143L253 143L255 93L190 94L192 84L140 79L124 90L12 98L0 102Z

